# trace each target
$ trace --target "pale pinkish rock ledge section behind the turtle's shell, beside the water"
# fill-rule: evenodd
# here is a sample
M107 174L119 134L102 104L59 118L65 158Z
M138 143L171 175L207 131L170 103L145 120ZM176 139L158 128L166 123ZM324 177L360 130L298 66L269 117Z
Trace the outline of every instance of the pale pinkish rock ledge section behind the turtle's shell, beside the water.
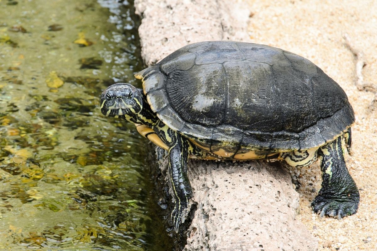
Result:
M230 9L233 12L229 12ZM147 65L155 64L187 44L209 40L243 41L248 37L250 13L234 1L135 0L135 10L143 18L139 36L141 55Z

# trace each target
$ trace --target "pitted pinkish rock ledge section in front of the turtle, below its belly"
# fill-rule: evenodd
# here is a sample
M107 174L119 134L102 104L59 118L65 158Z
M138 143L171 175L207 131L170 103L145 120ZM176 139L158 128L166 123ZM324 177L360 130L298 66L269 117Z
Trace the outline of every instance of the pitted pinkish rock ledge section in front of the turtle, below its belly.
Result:
M192 161L190 181L198 203L187 250L315 250L294 220L299 203L280 163Z

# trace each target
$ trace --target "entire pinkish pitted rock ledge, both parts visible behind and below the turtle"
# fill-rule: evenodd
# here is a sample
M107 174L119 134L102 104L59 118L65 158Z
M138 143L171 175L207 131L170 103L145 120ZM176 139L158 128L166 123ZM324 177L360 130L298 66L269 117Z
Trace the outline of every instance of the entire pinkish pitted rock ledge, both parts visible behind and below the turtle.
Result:
M244 7L233 0L135 0L146 64L198 41L248 41ZM189 180L197 209L185 250L317 249L317 240L295 220L299 195L279 163L191 160Z

